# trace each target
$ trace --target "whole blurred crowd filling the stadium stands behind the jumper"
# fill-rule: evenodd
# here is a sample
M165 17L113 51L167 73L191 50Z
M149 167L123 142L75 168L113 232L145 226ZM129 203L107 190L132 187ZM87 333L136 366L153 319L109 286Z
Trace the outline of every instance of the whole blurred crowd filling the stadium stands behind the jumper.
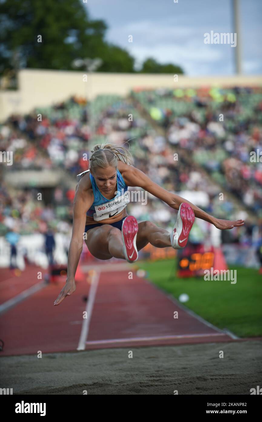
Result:
M107 95L91 103L71 97L28 115L12 115L0 126L1 149L13 151L12 170L61 168L76 183L76 175L88 168L96 143L106 139L124 145L135 167L164 189L218 218L246 219L241 230L222 232L223 242L259 242L261 221L254 225L244 209L262 218L262 163L251 162L249 154L262 151L262 89L160 89L131 95L132 101ZM141 114L141 106L162 131ZM5 171L10 171L8 166ZM228 193L221 198L222 187ZM0 236L5 236L11 249L20 235L41 233L47 238L48 233L65 233L70 239L74 194L66 184L56 186L47 203L37 200L35 188L15 189L2 183ZM131 203L127 211L168 230L176 218L174 209L151 194L147 205ZM208 226L198 220L191 240L204 241ZM53 248L50 237L48 242Z

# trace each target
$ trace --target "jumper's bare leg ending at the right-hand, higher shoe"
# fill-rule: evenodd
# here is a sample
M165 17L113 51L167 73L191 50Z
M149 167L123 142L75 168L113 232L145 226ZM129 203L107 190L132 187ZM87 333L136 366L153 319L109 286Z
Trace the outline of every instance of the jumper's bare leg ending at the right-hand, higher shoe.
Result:
M142 221L138 223L138 232L136 236L137 250L140 251L147 243L151 243L151 245L156 246L157 248L171 246L170 233L151 221Z

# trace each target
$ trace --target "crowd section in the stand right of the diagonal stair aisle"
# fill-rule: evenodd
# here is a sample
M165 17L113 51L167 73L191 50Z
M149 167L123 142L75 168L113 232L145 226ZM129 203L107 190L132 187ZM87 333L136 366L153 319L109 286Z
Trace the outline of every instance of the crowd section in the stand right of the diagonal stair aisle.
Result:
M133 96L165 128L168 143L262 216L261 87L158 89Z

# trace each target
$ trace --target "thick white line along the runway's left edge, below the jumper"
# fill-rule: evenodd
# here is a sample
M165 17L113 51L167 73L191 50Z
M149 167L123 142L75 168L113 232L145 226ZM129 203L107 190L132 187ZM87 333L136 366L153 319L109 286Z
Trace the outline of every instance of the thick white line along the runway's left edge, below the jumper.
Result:
M94 276L91 278L91 287L88 294L88 301L86 303L86 313L87 317L83 318L83 324L81 328L79 343L77 350L85 350L86 349L86 339L88 336L89 324L91 320L92 310L94 306L94 301L96 297L96 289L99 282L100 271L96 271Z

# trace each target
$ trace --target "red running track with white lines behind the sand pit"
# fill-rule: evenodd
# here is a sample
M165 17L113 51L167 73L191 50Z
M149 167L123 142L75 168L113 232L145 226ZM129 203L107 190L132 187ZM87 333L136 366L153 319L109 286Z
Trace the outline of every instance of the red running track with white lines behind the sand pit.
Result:
M233 341L137 277L135 271L133 279L128 279L132 264L102 264L96 269L89 282L86 277L78 282L73 295L58 306L53 302L64 282L43 283L40 290L2 311L0 339L5 345L0 356ZM19 277L19 288L17 278L1 281L5 299L31 282L39 283L35 278L30 281L30 271L28 268ZM85 296L88 301L83 300ZM175 311L178 319L174 319ZM83 318L84 312L87 318Z

